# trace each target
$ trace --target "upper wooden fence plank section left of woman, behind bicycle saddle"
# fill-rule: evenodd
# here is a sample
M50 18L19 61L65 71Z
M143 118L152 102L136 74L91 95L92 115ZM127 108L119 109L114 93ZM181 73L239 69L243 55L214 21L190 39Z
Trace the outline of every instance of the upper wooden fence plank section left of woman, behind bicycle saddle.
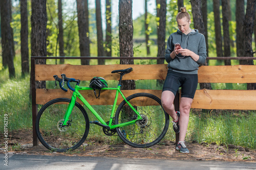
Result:
M66 74L69 78L79 80L91 80L93 77L103 77L106 80L118 80L120 75L111 71L117 69L125 69L132 67L133 71L123 76L122 80L164 80L167 74L166 64L156 65L35 65L35 80L48 81L54 80L53 76L60 77L61 74Z

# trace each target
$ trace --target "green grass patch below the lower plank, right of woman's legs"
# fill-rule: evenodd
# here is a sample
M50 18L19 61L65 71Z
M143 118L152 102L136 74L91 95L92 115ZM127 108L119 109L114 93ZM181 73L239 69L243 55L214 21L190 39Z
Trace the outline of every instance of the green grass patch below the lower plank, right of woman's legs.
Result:
M187 140L256 148L256 114L241 111L191 113Z

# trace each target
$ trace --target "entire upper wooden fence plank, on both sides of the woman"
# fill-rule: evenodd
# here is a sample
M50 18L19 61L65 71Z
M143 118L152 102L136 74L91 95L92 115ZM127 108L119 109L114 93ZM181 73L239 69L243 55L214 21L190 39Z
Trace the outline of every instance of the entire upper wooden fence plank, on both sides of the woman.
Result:
M53 75L66 74L79 80L91 80L103 77L106 80L118 80L119 74L111 74L116 69L133 67L133 71L123 80L164 80L167 64L152 65L35 65L35 80L54 80ZM256 83L256 65L201 66L198 70L199 83Z

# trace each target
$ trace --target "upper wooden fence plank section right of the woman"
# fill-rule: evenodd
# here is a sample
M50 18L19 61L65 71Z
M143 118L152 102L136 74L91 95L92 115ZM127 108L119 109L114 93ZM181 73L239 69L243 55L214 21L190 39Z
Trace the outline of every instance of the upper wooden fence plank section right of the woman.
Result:
M199 83L256 83L256 65L201 66Z

